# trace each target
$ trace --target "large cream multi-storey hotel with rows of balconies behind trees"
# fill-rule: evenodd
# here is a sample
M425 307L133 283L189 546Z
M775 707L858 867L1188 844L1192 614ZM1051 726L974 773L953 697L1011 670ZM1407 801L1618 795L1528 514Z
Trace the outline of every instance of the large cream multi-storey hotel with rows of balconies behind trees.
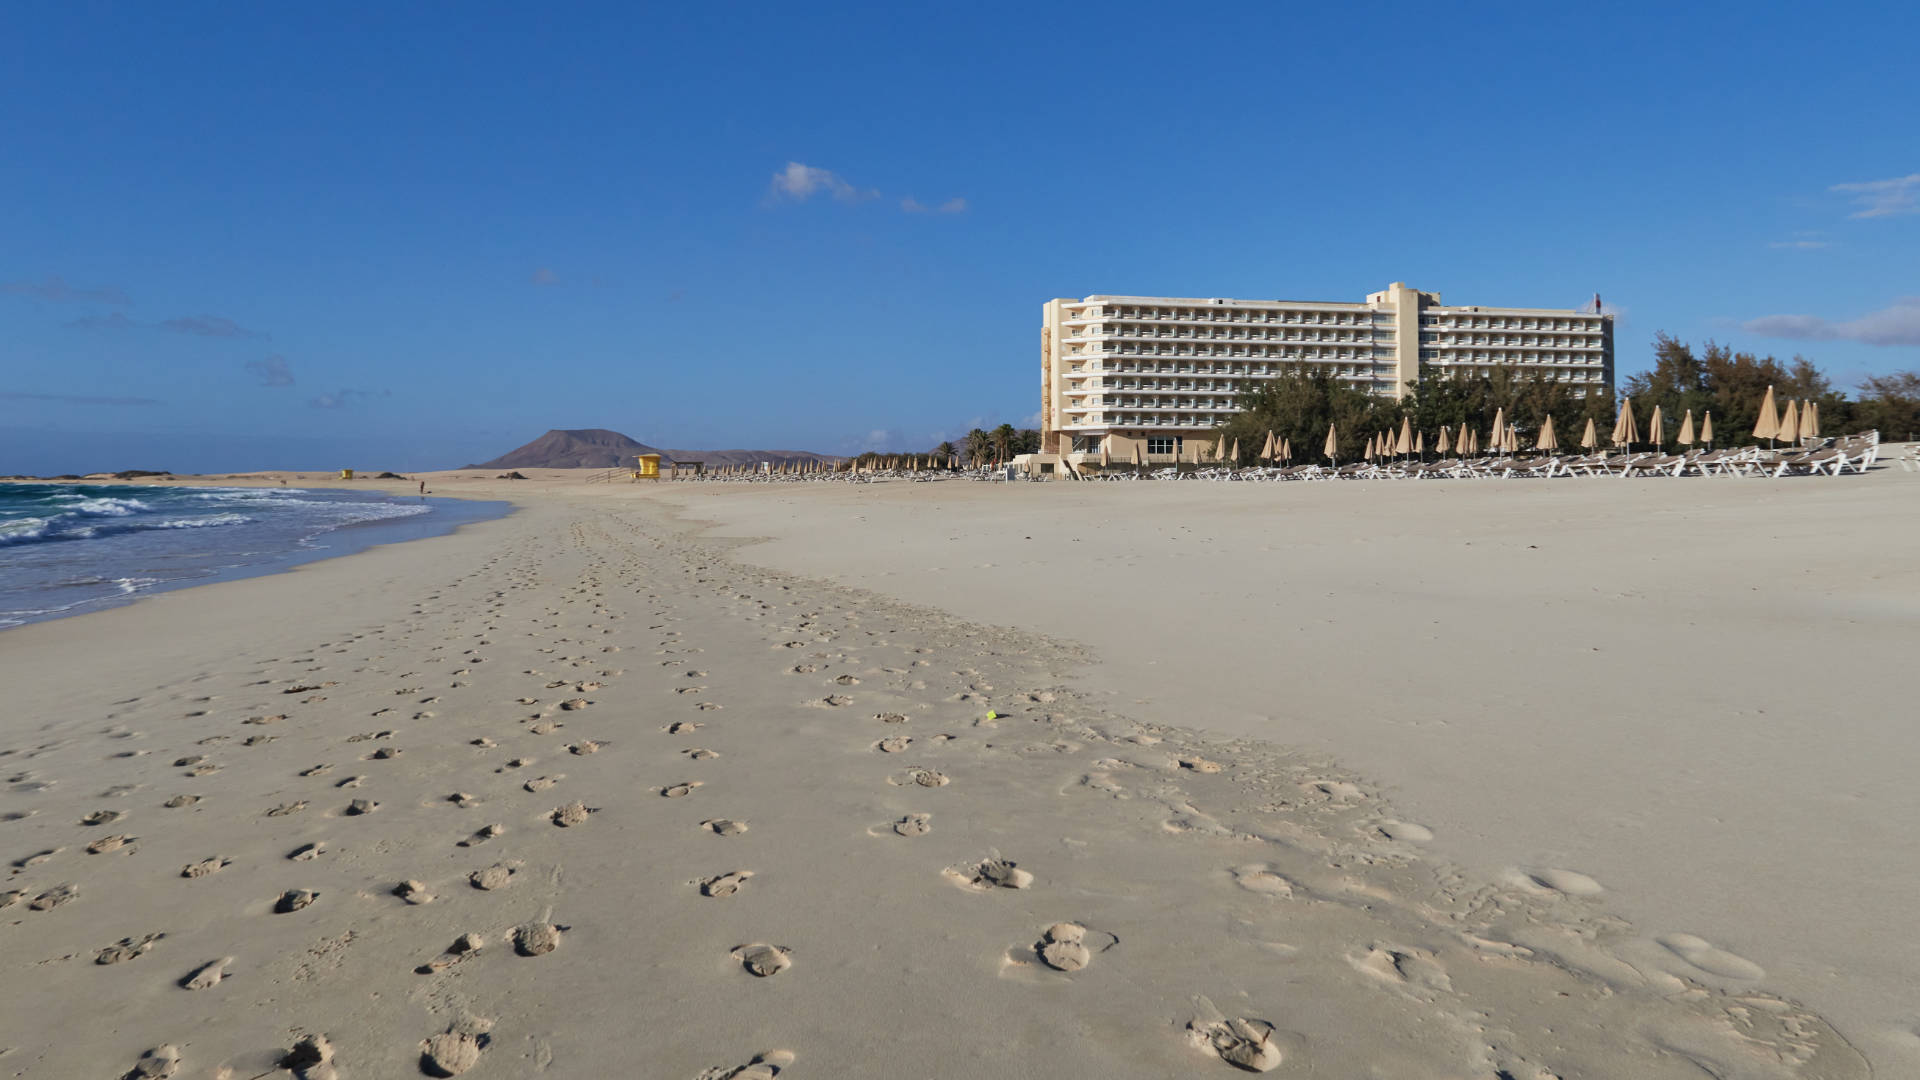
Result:
M1398 281L1363 304L1087 296L1048 300L1044 319L1041 454L1169 457L1183 436L1212 442L1235 394L1308 369L1396 400L1496 367L1613 392L1613 315L1444 306Z

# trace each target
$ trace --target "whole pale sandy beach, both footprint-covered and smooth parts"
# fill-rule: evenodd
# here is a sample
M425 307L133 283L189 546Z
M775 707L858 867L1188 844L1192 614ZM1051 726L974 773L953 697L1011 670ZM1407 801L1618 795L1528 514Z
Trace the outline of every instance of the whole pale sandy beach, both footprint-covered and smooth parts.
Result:
M1910 475L530 477L0 634L8 1074L1920 1068Z

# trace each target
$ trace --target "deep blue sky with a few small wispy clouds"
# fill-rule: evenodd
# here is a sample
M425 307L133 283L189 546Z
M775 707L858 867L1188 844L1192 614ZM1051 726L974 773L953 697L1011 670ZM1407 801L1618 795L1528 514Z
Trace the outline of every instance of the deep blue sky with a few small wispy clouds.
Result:
M405 10L399 10L405 8ZM0 473L924 448L1052 296L1920 367L1910 4L15 6Z

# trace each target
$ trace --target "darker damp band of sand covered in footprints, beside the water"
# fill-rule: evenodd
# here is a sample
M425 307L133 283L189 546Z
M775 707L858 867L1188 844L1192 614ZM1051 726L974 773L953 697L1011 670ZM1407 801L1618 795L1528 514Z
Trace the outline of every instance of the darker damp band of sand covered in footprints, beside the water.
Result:
M131 832L146 836L161 867L77 855L71 842L48 867L140 874L125 880L127 892L113 892L132 911L100 922L81 944L109 944L109 928L111 938L165 928L171 944L154 947L163 970L146 970L154 963L142 961L111 969L106 982L96 976L108 988L98 992L106 1007L119 1003L125 1015L113 1013L121 1019L92 1057L36 1047L21 1032L0 1032L0 1043L25 1042L50 1055L50 1065L61 1063L50 1074L69 1074L81 1059L84 1074L123 1068L138 1055L134 1043L175 1038L169 1024L188 1024L219 999L180 990L123 997L119 988L132 974L119 972L171 978L194 955L192 942L204 940L202 951L244 957L234 969L255 980L240 984L255 986L242 990L244 999L267 995L278 1005L255 1009L267 1017L192 1020L198 1034L186 1051L196 1072L207 1061L257 1072L263 1051L246 1047L276 1038L284 1045L276 1032L294 1024L351 1047L357 1074L409 1074L403 1047L432 1034L430 1024L472 1019L495 1022L490 1057L528 1057L526 1065L495 1061L495 1070L532 1070L541 1053L566 1059L574 1072L605 1070L620 1049L595 1036L595 1024L616 1022L597 1001L620 988L622 1001L637 997L660 1020L639 1047L643 1057L666 1076L689 1078L770 1049L799 1053L795 1076L872 1070L900 1053L950 1063L937 1070L943 1076L970 1074L981 1063L1016 1072L1041 1063L1062 1074L1231 1074L1188 1038L1187 1024L1210 1022L1210 1015L1275 1022L1286 1051L1283 1076L1363 1067L1423 1076L1505 1068L1528 1080L1678 1078L1701 1068L1755 1078L1864 1076L1845 1040L1791 999L1761 990L1770 980L1747 978L1734 963L1741 957L1695 955L1722 974L1686 961L1680 953L1690 945L1632 932L1607 913L1605 897L1582 896L1578 874L1463 876L1428 851L1430 838L1402 821L1380 788L1323 749L1183 726L1206 719L1206 698L1175 709L1190 719L1156 723L1158 707L1114 696L1119 659L1041 636L1046 626L970 623L945 607L762 569L764 544L720 536L724 528L703 513L710 507L699 505L707 500L687 500L695 503L687 507L647 490L611 492L634 498L522 492L528 498L511 500L515 513L442 536L440 546L371 548L361 559L323 559L301 573L177 590L150 598L152 605L92 613L94 623L40 623L10 640L21 648L0 655L0 669L21 665L17 680L77 650L115 655L115 665L109 678L96 676L96 686L79 692L60 678L21 682L17 715L38 717L38 734L12 730L0 749L17 753L23 738L36 740L42 749L21 761L13 780L50 786L15 786L15 805L46 813L0 824L0 836L10 851L33 847L21 826L58 840L83 807L134 811ZM156 638L169 625L205 632ZM223 659L232 642L244 646ZM453 663L463 671L445 669ZM591 678L593 690L566 682L555 698L540 688L555 678ZM309 696L282 696L282 682ZM580 694L576 711L561 700L566 694ZM234 726L261 709L288 717ZM380 719L369 719L369 709ZM987 709L1002 719L983 721ZM904 723L879 721L893 713ZM676 719L707 730L691 738L659 730ZM367 746L346 746L361 738L353 732L380 724L394 728L392 746L407 755L351 761L367 757ZM536 734L541 724L564 730ZM240 749L215 742L228 738L221 732L282 742ZM501 749L467 746L482 734ZM879 742L895 734L914 746L887 753ZM555 742L580 738L603 749L582 757ZM689 761L691 744L720 759ZM152 746L154 753L106 769L83 765L115 746ZM497 755L520 746L543 761L501 773ZM175 753L282 765L180 780L180 769L165 767ZM342 767L324 780L296 776L296 765L315 761ZM889 782L902 767L937 771L950 784ZM100 774L69 792L75 769ZM386 803L382 815L340 817L348 794L332 788L346 771L371 778L353 794ZM136 790L98 794L119 773ZM532 788L520 790L528 773L561 776L561 786L530 796ZM684 799L660 799L666 788L653 788L691 780L705 790ZM204 811L144 809L175 788L211 801ZM472 792L480 807L447 809L442 799L453 788ZM261 807L307 798L315 807L305 815L259 817ZM584 798L597 813L568 830L532 817L566 798ZM914 838L889 824L914 811L931 811L931 834ZM169 819L177 813L192 817ZM685 819L687 832L662 832L662 813ZM751 821L753 832L722 840L695 828L716 813ZM497 849L465 855L445 846L484 821L507 822ZM355 840L369 830L380 836L376 844ZM98 832L81 830L79 840ZM342 861L323 859L317 871L286 861L303 838L330 842ZM211 851L234 867L207 884L138 884ZM964 871L983 851L1004 853L1039 880L991 896L943 880L943 865ZM515 857L524 861L522 888L534 888L532 896L509 892L499 901L461 880L472 867ZM703 874L722 871L756 876L726 901L689 892ZM52 880L40 869L27 876ZM390 886L401 876L422 880L440 903L397 901ZM207 909L230 926L177 907L242 882L234 901ZM305 930L298 917L250 907L301 882L323 886L323 905L330 896L346 911L317 909L330 911L328 922ZM100 890L111 882L81 884L86 892L71 907L15 922L61 938L75 928L61 915L83 911L88 899L113 903ZM476 926L493 942L501 917L486 911L499 903L515 920L564 922L570 947L532 961L482 957L426 978L386 974L380 957L365 953L369 945L419 953L424 963L461 928ZM142 905L152 905L152 917L138 917ZM628 920L636 907L649 913L645 920ZM98 920L102 909L92 911ZM422 919L432 928L411 928ZM1021 942L1060 919L1116 942L1098 938L1087 970L1052 970ZM273 961L269 938L296 926L305 942L323 928L359 928L363 944L338 974L321 961L296 965L300 947ZM716 963L741 942L791 947L797 967L760 986ZM58 945L50 940L48 947ZM42 970L52 980L42 995L61 1003L67 969ZM503 997L501 976L534 978L540 990ZM392 1005L374 1009L349 990L359 986ZM860 1015L885 1015L891 1001L948 1022L893 1028L895 1042L876 1045ZM866 1007L849 1015L849 1003ZM716 1011L732 1013L737 1030L699 1022ZM1724 1042L1722 1028L1740 1038ZM1542 1038L1548 1030L1551 1038Z

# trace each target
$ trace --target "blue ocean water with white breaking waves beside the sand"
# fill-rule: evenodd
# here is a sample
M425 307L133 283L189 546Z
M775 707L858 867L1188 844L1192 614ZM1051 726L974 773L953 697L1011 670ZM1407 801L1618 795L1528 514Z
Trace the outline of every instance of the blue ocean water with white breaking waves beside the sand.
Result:
M144 484L0 484L0 630L451 532L507 503Z

